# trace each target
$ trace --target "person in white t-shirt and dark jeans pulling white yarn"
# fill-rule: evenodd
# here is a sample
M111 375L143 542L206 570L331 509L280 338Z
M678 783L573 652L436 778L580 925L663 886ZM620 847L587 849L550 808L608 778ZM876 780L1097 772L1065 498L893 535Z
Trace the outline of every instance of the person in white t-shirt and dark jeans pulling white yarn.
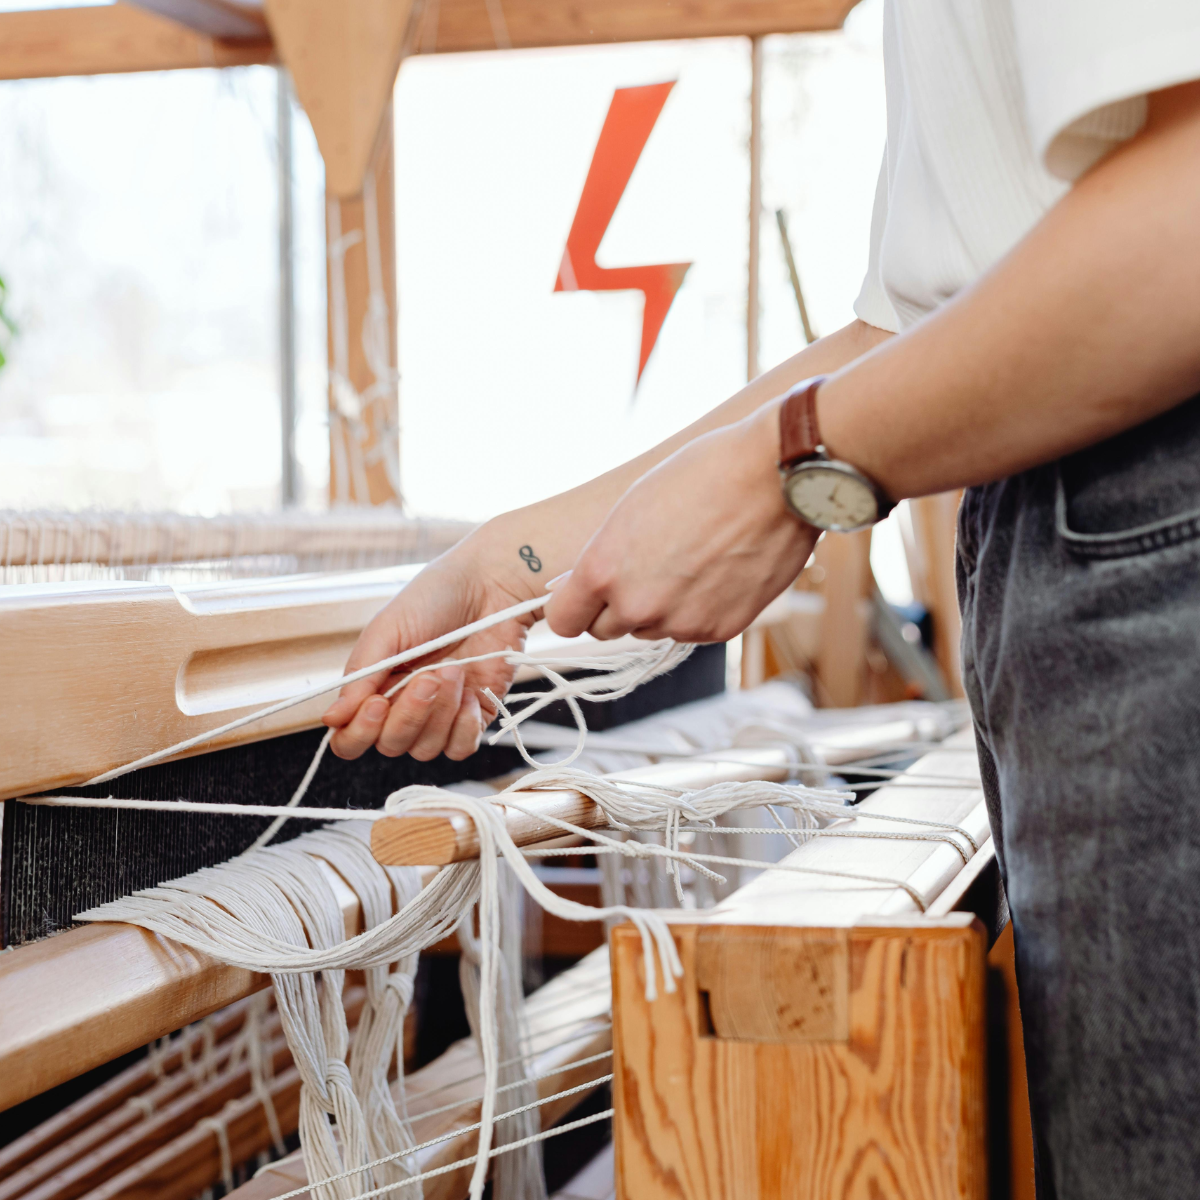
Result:
M785 394L827 377L799 390L815 397L799 415L858 484L889 502L967 490L964 684L1014 928L1039 1195L1190 1200L1200 5L890 0L884 64L857 319L648 454L487 522L379 613L348 667L552 576L563 635L740 632L818 536L776 463L800 403ZM494 662L446 667L389 703L360 682L325 716L332 748L462 758L493 715L482 689L508 683Z

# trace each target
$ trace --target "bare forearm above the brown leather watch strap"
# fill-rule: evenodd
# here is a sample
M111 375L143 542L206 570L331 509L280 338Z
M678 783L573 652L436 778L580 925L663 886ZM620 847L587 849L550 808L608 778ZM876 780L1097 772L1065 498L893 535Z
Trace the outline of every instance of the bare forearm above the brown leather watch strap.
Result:
M989 275L820 392L830 452L894 497L1001 479L1200 391L1200 85L1151 98Z

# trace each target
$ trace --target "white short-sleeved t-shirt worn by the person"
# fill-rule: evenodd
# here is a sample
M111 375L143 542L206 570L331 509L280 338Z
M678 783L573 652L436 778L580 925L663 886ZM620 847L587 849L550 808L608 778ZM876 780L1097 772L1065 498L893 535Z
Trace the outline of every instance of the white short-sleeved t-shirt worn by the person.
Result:
M906 329L1200 78L1200 0L887 0L888 143L854 312ZM1200 216L1198 216L1200 220Z

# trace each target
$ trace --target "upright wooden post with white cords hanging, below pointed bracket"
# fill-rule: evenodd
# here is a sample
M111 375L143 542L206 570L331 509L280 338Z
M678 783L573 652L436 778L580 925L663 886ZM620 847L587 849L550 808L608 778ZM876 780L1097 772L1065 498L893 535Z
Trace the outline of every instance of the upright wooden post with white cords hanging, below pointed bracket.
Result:
M356 196L325 196L329 499L398 504L396 185L391 101ZM370 349L370 353L368 353Z

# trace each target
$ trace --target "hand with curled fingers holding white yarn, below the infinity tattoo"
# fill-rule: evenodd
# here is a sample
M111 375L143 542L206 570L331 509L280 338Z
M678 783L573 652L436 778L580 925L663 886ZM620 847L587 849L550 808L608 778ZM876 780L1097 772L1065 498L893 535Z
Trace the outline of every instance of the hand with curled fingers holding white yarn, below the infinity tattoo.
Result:
M503 572L488 569L487 554L480 550L487 541L485 527L425 568L362 631L346 673L530 599L528 588L518 592L511 580L508 586L497 582ZM503 697L512 682L514 668L503 659L418 676L390 702L382 692L430 661L521 649L533 622L533 616L505 622L428 659L406 662L395 673L348 684L322 718L336 730L330 749L340 758L358 758L374 745L389 757L407 752L421 762L443 752L449 758L474 754L496 716L484 689Z

